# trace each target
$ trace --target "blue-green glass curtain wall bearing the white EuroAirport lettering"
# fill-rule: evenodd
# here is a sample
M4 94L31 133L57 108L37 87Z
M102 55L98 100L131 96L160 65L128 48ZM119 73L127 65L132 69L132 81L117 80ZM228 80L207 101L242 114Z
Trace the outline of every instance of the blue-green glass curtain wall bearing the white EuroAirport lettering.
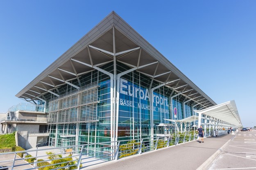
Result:
M101 67L107 72L113 73L113 63L108 63ZM124 72L129 69L126 65L117 62L117 73ZM50 130L49 145L61 146L63 143L88 144L111 141L111 99L110 99L110 77L102 72L94 70L79 78L82 87L96 83L98 85L98 103L97 120L78 123L62 123L48 125ZM79 85L77 79L70 83ZM152 86L150 87L150 85ZM168 123L171 125L168 129L174 129L169 121L163 119L172 119L170 112L170 95L172 89L162 86L155 89L153 92L153 107L150 108L150 88L156 87L160 83L139 73L130 72L120 79L120 97L119 97L119 111L118 111L118 140L126 139L140 139L150 137L150 109L153 110L153 130L154 136L157 133L157 126L161 123ZM70 85L63 85L58 87L60 94L67 94L76 89ZM55 93L58 93L56 90ZM175 92L174 94L175 95ZM47 94L45 97L50 100L56 96ZM173 98L173 106L177 107L178 119L184 119L182 101L184 98L177 96ZM189 103L185 105L186 117L192 115L192 108ZM77 129L77 132L76 132ZM57 136L56 136L57 130ZM63 139L68 135L70 139ZM64 137L61 137L64 136ZM69 142L68 142L69 141Z

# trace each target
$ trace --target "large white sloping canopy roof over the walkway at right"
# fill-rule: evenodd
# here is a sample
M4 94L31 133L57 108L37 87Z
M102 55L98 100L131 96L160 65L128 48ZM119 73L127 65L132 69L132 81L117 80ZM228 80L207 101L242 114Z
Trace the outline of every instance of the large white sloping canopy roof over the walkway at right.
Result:
M242 126L235 101L228 101L203 110L194 110L196 113L219 119L237 127ZM200 119L200 118L199 118Z

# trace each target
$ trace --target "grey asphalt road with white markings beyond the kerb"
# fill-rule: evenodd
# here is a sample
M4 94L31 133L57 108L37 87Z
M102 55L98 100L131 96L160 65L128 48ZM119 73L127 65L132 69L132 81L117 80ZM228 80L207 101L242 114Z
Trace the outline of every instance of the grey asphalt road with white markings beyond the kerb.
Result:
M256 170L256 130L238 132L209 170Z

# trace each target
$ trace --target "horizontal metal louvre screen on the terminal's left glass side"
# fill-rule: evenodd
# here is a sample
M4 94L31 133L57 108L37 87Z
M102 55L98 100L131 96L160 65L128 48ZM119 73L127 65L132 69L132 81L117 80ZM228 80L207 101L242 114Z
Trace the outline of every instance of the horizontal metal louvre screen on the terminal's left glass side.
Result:
M98 86L83 87L48 101L48 124L97 121Z

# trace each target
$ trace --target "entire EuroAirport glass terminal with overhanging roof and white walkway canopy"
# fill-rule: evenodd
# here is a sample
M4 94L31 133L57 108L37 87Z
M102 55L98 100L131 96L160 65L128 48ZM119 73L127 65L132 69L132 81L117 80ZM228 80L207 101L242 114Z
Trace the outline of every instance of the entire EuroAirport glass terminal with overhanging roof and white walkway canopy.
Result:
M241 126L114 11L16 96L44 105L54 147L168 135L174 107L181 132Z

